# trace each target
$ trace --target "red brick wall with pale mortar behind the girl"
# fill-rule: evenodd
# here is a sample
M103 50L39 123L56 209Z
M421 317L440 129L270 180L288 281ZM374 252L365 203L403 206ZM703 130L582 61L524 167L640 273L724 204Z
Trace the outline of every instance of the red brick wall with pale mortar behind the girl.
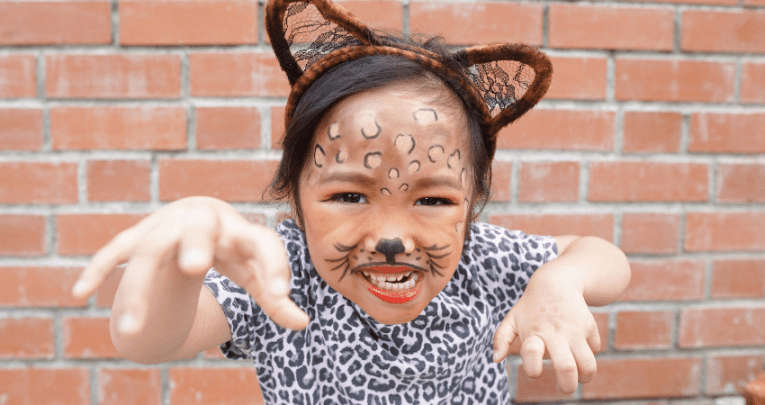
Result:
M509 362L520 402L710 404L765 362L765 1L349 1L454 45L523 41L556 74L499 140L483 220L597 235L633 281L594 309L605 350L574 395ZM119 275L89 255L195 194L260 201L288 86L254 1L0 1L0 403L257 403L216 350L142 367L107 330Z

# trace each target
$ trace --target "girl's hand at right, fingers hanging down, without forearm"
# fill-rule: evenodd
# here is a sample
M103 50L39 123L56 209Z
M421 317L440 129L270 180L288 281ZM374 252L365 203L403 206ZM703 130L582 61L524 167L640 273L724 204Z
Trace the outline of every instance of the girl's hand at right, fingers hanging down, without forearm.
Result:
M510 353L510 345L521 340L523 370L531 378L542 374L542 360L552 359L558 389L576 391L577 381L587 383L595 376L595 353L600 335L595 318L576 284L556 272L555 261L540 267L526 291L494 334L494 361Z

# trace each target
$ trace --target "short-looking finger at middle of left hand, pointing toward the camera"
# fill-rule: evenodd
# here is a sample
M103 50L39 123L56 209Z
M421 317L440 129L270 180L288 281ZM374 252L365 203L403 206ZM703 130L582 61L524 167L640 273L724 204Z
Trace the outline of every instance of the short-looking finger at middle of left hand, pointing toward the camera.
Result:
M178 267L188 275L207 273L215 256L220 221L211 210L194 209L183 213L183 231L178 246Z

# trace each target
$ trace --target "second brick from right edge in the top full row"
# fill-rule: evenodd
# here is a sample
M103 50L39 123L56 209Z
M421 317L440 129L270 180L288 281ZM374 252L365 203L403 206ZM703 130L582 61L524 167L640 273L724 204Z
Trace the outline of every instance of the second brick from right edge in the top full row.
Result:
M553 4L550 5L549 45L552 48L669 51L674 41L673 14L666 8Z

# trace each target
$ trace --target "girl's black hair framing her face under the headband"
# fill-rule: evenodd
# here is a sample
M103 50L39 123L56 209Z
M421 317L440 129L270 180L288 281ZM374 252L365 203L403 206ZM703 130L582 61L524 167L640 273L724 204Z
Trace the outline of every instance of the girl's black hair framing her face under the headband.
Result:
M446 55L438 38L427 41L388 37ZM456 62L455 62L456 63ZM451 80L407 58L394 55L372 55L354 59L324 73L311 84L298 103L282 140L283 157L267 192L274 200L289 200L295 210L296 220L303 227L300 207L299 184L303 168L310 155L316 128L325 115L338 102L348 96L379 89L396 83L417 83L424 88L443 90L444 85L461 100L461 108L467 117L469 163L472 167L473 198L471 198L472 222L481 212L491 192L491 159L483 141L482 118L478 111L467 108L465 90ZM467 234L467 230L466 230Z

